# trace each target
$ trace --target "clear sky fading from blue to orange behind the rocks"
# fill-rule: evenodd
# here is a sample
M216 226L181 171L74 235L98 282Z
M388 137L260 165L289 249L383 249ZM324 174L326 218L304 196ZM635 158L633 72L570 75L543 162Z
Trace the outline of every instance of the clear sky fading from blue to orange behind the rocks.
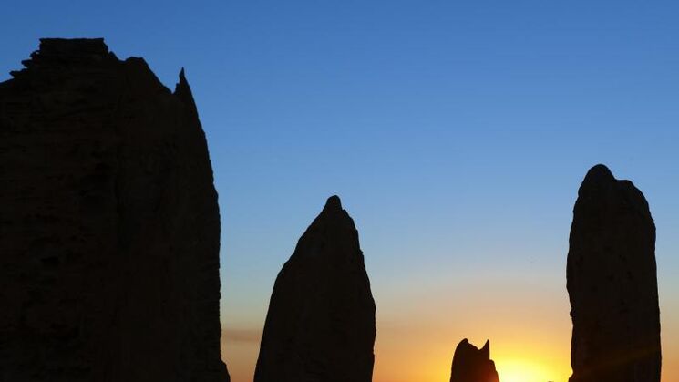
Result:
M33 1L4 7L0 79L42 36L106 38L209 139L223 356L252 380L273 281L332 194L377 305L375 382L448 381L489 338L503 382L571 373L565 262L585 172L657 225L663 381L679 380L679 5L671 1Z

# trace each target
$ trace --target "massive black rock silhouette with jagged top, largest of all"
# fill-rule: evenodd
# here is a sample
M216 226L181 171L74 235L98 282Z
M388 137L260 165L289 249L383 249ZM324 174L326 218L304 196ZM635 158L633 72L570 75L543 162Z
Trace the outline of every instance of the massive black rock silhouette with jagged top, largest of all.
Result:
M189 84L42 39L0 84L0 380L209 381L217 193Z

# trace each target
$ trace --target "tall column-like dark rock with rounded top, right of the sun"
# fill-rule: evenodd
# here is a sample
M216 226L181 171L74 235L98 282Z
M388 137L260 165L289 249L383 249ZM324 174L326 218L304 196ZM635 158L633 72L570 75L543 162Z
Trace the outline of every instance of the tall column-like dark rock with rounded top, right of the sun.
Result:
M655 226L631 181L603 165L585 176L568 253L571 382L658 382Z

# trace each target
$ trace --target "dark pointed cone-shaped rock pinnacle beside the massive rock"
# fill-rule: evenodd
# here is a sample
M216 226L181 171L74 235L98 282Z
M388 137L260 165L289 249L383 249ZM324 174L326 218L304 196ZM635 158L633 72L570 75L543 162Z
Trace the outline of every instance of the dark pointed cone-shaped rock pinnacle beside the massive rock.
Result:
M276 278L255 382L370 382L375 301L354 221L338 197Z

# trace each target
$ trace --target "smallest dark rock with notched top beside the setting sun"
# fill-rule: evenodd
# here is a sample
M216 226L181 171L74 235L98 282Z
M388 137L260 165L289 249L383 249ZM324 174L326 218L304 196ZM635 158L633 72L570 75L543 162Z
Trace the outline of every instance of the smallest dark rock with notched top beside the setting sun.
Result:
M480 350L467 338L459 342L450 369L450 382L499 382L495 362L490 359L490 341Z

